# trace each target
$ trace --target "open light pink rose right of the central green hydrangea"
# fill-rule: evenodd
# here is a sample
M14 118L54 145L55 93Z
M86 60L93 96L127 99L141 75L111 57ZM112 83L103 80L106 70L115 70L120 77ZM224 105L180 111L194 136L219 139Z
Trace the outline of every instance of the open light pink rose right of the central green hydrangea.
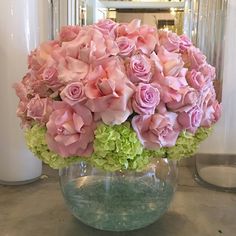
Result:
M177 115L173 112L154 115L138 115L132 126L145 148L158 149L174 146L179 135Z

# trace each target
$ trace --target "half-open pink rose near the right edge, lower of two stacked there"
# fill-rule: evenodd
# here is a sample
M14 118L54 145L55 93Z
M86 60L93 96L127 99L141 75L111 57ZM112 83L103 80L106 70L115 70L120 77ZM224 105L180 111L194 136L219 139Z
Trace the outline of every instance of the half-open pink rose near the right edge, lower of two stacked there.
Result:
M197 89L198 91L203 88L205 85L205 78L201 72L198 72L196 70L191 70L187 72L186 79L188 81L188 84Z

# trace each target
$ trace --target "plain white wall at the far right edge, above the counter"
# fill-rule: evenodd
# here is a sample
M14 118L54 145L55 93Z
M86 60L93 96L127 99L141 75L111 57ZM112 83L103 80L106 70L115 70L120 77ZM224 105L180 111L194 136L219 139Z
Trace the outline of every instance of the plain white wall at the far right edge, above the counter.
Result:
M229 0L225 35L223 115L200 153L236 154L236 1Z

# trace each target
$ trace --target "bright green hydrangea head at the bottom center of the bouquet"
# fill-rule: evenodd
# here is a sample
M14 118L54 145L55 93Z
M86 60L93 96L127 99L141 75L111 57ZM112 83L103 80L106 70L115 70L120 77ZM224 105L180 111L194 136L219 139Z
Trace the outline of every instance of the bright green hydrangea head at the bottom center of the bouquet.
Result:
M143 146L128 122L100 124L95 130L91 161L109 171L139 169L149 162L149 156L143 155Z

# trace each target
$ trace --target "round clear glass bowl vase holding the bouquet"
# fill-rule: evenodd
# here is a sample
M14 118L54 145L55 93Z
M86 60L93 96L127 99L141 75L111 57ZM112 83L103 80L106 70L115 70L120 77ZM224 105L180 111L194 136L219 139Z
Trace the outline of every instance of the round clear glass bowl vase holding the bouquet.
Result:
M176 162L155 159L142 172L107 172L81 161L59 171L66 205L81 222L102 230L129 231L158 220L177 184Z

